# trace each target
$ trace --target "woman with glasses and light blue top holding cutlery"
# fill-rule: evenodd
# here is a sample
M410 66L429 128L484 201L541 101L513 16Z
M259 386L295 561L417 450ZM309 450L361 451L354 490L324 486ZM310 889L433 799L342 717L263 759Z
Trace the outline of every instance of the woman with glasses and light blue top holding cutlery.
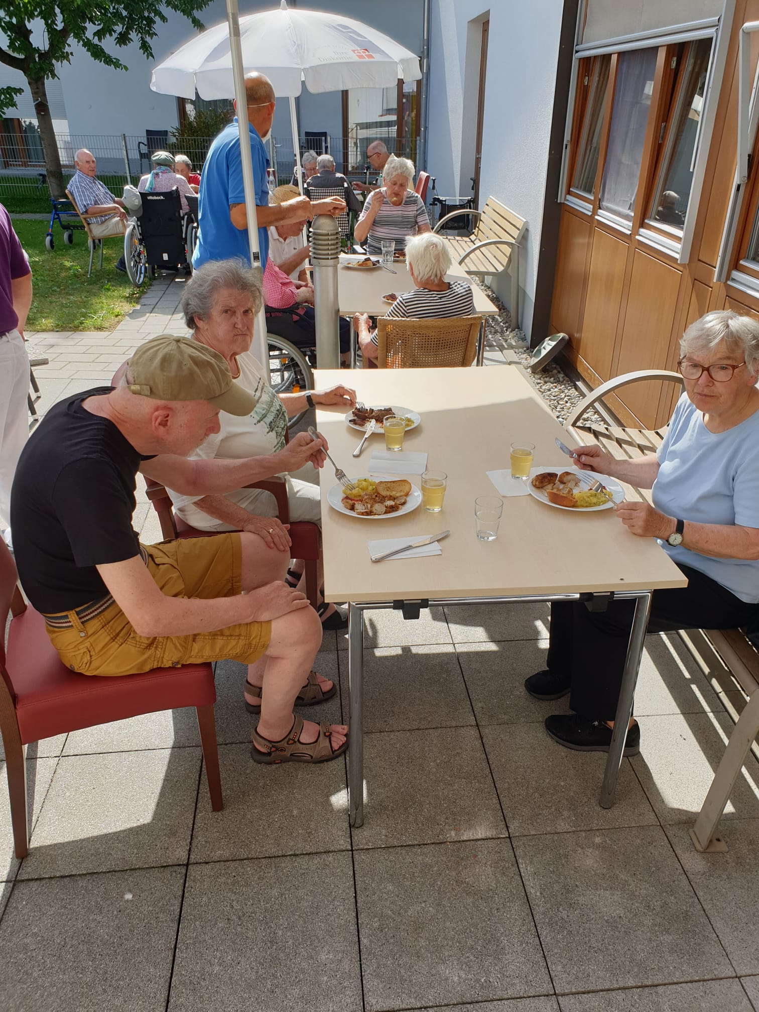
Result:
M759 323L707 313L685 331L678 367L685 393L656 456L617 460L583 446L578 463L652 490L653 506L622 502L614 510L630 536L658 539L688 585L654 591L649 632L735 628L759 614ZM634 607L552 605L547 670L524 685L536 699L570 694L574 713L545 719L560 745L608 751ZM625 755L638 754L640 739L631 721Z

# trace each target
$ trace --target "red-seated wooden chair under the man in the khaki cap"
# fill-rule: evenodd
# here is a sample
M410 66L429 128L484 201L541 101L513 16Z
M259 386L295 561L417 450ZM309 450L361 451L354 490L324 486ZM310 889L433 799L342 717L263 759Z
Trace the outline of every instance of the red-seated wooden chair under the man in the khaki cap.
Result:
M24 603L16 567L0 539L0 621L8 612L7 651L0 644L0 733L5 747L10 818L16 857L28 852L26 762L23 746L40 738L91 728L162 709L194 706L200 729L210 807L221 811L214 703L216 687L209 664L157 668L141 675L101 678L80 675L62 663L45 630L45 619Z

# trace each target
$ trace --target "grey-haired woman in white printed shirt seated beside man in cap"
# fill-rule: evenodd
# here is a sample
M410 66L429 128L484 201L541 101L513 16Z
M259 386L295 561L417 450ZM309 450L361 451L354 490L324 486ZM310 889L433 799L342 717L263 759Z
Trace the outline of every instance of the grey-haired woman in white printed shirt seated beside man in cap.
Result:
M233 377L256 397L252 415L237 418L222 412L220 431L209 435L190 454L198 458L246 457L280 452L287 418L317 404L355 404L355 393L347 387L301 394L275 394L265 380L260 362L250 353L253 324L261 308L260 281L240 260L209 261L185 282L182 312L192 338L218 351L227 360ZM321 523L319 486L313 468L285 475L290 519ZM308 472L308 474L307 474ZM311 479L309 481L308 479ZM288 552L286 525L276 517L274 497L262 489L238 489L226 495L183 496L169 489L179 516L199 530L248 530L258 534L268 549ZM294 560L288 582L301 583L305 564ZM322 582L321 567L319 585ZM303 588L301 588L303 589ZM334 604L322 602L318 609L325 628L345 628L346 620Z

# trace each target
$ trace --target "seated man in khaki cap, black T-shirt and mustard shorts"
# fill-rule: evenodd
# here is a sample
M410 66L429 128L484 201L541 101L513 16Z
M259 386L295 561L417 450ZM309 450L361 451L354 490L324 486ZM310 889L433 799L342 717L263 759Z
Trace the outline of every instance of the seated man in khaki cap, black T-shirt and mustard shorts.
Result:
M283 582L286 558L248 532L143 545L132 528L138 471L208 495L309 461L322 467L326 443L305 433L265 456L186 459L219 431L220 410L243 416L254 407L212 348L171 335L147 341L115 388L55 405L26 444L11 496L16 563L72 671L247 663L248 681L262 686L253 758L321 762L345 751L347 729L292 715L299 695L316 702L334 693L311 671L321 624Z

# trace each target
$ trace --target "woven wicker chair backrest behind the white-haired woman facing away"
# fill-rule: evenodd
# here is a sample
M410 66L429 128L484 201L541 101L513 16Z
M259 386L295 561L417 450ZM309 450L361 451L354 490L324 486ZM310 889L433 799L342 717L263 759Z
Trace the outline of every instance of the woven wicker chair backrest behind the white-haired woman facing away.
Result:
M377 319L377 357L381 369L439 368L472 365L483 318L448 317L442 320Z

